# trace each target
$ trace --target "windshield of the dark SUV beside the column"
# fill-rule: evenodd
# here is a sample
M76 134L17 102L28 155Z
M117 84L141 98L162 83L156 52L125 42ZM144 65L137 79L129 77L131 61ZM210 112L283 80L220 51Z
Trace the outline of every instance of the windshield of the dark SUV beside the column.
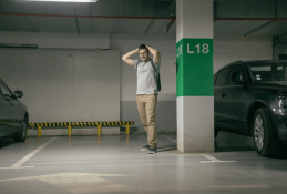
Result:
M247 63L255 82L287 81L287 62L264 61Z

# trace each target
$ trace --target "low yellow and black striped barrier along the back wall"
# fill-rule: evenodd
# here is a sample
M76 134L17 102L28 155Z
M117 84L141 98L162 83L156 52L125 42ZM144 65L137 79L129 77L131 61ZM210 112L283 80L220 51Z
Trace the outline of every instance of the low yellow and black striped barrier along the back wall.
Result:
M102 126L122 126L126 125L126 134L130 134L130 125L133 121L111 121L111 122L55 122L55 123L29 123L30 127L38 127L38 136L41 136L42 127L68 127L68 136L72 135L72 126L98 126L98 135L102 134Z

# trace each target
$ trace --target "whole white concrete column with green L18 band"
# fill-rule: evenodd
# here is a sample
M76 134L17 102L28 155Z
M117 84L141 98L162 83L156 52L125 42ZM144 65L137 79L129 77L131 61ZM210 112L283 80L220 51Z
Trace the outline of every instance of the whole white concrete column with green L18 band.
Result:
M176 0L180 152L214 152L213 0Z

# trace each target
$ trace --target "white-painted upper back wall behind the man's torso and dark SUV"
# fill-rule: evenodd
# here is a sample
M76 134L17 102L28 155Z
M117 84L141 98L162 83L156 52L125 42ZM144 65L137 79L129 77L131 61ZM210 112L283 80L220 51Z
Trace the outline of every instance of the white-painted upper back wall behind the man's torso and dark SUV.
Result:
M30 43L40 48L112 49L123 55L145 43L162 54L162 92L158 101L175 101L176 35L132 34L65 34L0 32L0 43ZM215 37L214 71L236 60L271 59L271 37ZM134 59L139 59L137 55ZM121 60L121 101L134 101L136 90L135 70Z

